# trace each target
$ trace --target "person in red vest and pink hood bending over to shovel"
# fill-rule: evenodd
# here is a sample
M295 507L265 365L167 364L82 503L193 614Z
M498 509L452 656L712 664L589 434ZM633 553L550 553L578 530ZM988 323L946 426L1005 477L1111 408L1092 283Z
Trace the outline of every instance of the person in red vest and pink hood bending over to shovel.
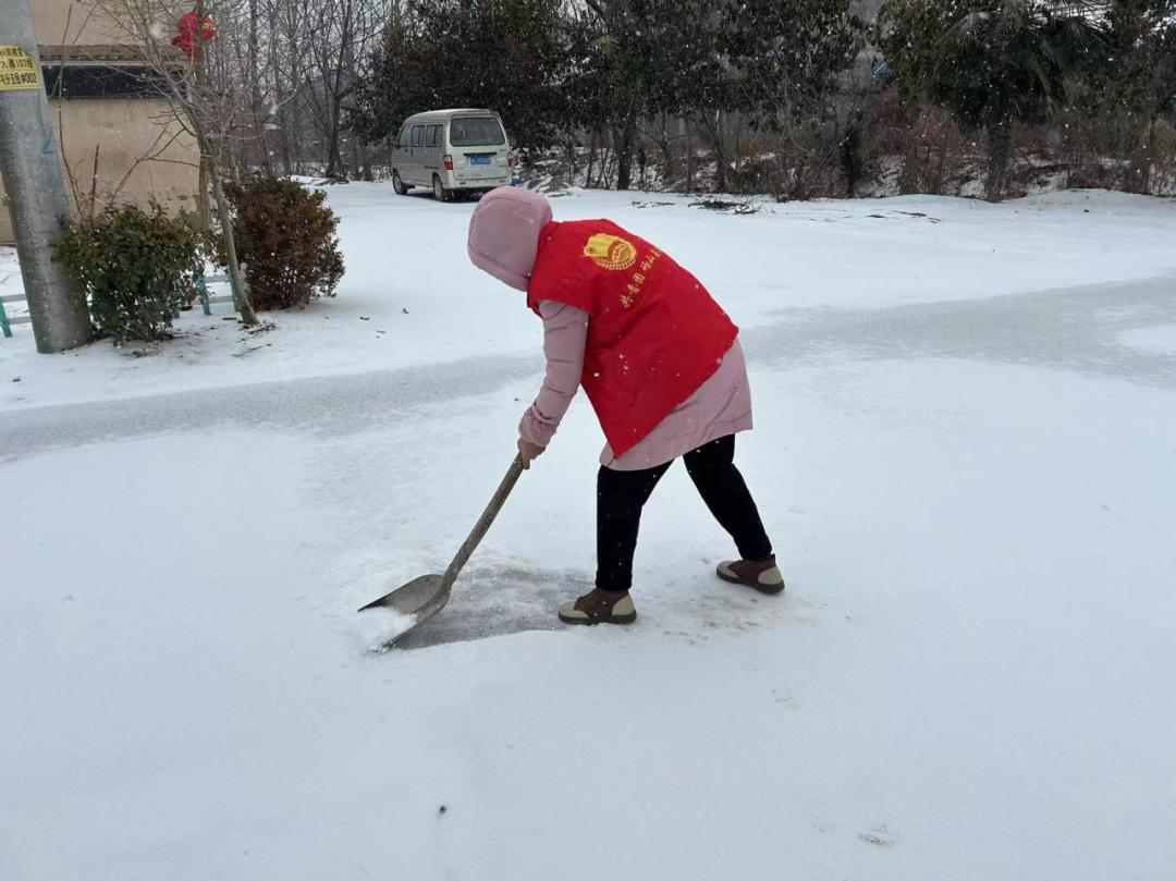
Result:
M522 467L542 455L583 386L608 443L597 476L596 587L568 623L629 623L641 509L677 458L742 559L719 576L784 589L755 501L734 465L751 428L739 328L690 273L608 220L557 222L541 195L502 187L469 223L469 258L526 292L543 320L547 375L519 426Z

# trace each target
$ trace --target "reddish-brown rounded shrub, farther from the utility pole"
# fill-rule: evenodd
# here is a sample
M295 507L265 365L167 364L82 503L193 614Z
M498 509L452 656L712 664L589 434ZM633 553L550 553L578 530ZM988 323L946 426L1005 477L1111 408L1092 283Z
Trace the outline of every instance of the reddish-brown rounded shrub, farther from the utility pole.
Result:
M255 309L302 308L334 296L343 275L327 194L294 181L258 178L225 191L233 206L238 256Z

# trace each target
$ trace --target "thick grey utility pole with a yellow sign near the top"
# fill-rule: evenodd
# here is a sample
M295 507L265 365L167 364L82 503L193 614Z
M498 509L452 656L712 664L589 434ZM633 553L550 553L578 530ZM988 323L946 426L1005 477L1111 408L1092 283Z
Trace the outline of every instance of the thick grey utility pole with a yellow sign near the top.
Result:
M0 174L36 351L81 346L92 336L86 298L49 251L69 218L69 200L28 0L0 0Z

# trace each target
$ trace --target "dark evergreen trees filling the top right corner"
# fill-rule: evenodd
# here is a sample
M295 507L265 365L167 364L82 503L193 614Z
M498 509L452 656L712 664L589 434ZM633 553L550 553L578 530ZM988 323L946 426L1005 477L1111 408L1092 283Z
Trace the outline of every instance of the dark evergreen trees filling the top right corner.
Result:
M1176 2L888 0L878 35L907 102L984 133L990 200L1005 193L1017 127L1067 107L1110 129L1101 146L1130 167L1127 188L1148 189L1155 128L1176 102Z

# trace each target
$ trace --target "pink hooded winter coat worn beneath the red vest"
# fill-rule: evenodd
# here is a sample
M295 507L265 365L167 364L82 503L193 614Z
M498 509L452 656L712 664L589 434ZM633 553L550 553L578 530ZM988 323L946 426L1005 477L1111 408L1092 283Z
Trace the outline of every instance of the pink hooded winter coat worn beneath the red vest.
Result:
M482 196L469 222L468 251L475 266L519 291L526 291L539 254L540 231L552 207L535 193L501 187ZM543 387L519 425L527 441L546 447L580 388L588 313L543 301ZM739 340L719 371L623 456L606 445L601 465L615 470L654 468L728 434L751 428L751 394Z

